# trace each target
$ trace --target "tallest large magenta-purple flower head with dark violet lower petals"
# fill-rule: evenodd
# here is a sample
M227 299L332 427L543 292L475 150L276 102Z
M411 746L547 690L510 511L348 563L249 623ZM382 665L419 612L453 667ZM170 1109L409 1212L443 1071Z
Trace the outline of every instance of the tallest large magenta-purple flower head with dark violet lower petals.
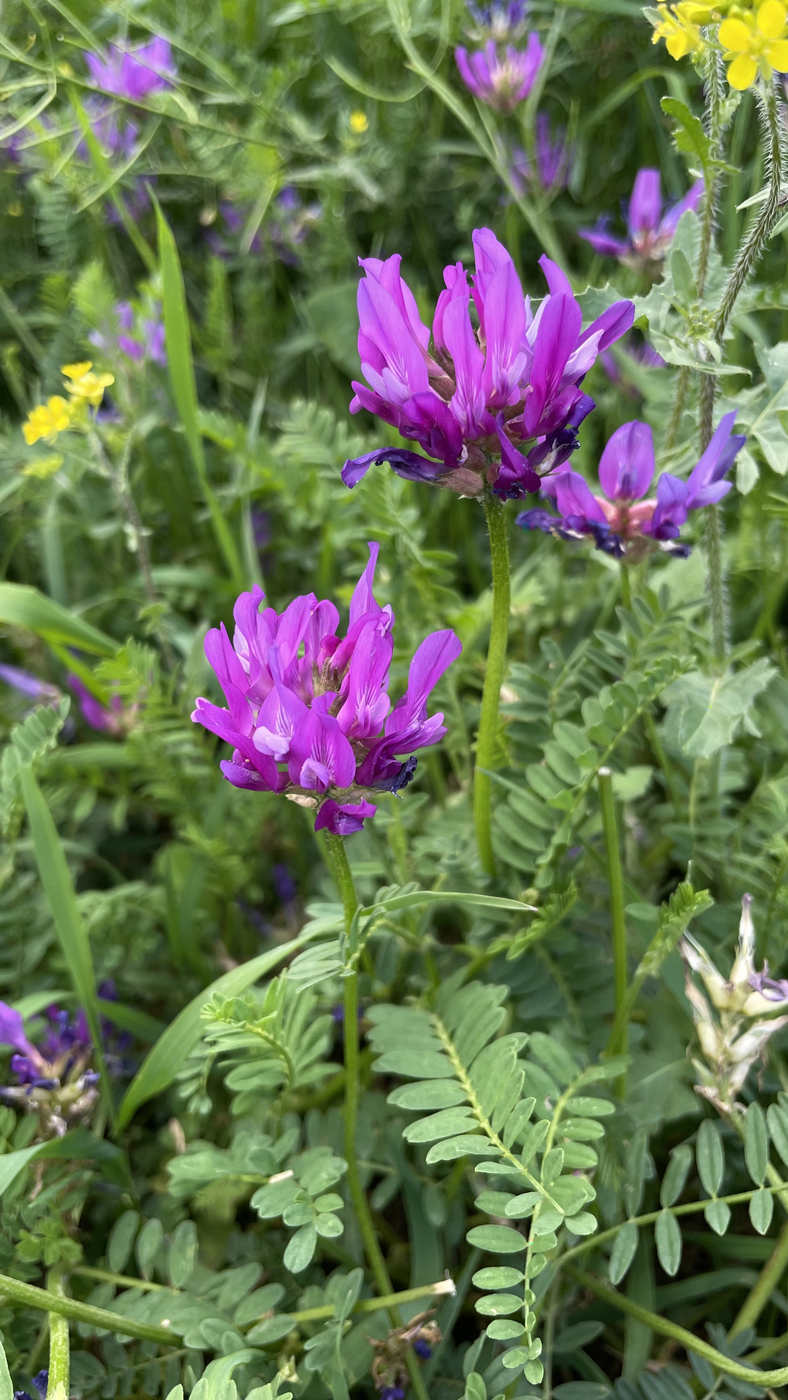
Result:
M374 462L388 462L407 480L463 496L488 484L502 497L522 497L577 447L593 407L581 382L630 329L633 302L616 302L584 330L571 286L549 258L540 259L549 293L535 312L495 235L477 228L473 245L470 286L462 263L444 272L431 335L400 276L399 253L361 259L358 354L367 382L353 382L350 412L367 409L428 456L378 448L344 463L346 486Z

